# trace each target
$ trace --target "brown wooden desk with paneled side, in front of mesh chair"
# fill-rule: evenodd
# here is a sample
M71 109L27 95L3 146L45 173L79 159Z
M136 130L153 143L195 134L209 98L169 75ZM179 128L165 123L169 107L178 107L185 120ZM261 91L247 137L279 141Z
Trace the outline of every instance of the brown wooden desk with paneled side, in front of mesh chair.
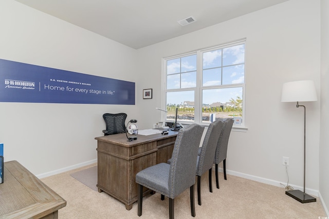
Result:
M169 134L138 135L137 140L127 141L125 133L95 137L98 154L99 192L117 198L132 209L137 201L136 174L171 158L178 132ZM145 188L144 195L151 190Z

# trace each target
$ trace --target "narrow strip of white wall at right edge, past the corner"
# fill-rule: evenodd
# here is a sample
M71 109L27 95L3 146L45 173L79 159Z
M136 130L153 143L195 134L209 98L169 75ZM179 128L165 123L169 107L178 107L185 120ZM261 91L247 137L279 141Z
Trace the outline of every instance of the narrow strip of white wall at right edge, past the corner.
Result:
M325 206L329 206L329 2L321 0L321 126L320 126L320 193ZM326 214L329 211L325 208Z

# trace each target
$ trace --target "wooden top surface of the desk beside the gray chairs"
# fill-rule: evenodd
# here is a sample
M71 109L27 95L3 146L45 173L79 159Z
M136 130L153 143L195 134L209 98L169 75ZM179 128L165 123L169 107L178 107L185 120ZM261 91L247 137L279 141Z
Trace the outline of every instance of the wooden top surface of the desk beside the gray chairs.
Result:
M107 142L115 145L120 145L124 147L133 147L141 144L145 144L148 142L153 142L153 141L158 141L161 139L169 138L176 136L178 134L178 131L168 131L168 134L151 134L151 135L137 135L137 140L134 141L128 141L127 136L125 133L121 134L113 134L113 135L106 135L106 136L100 136L100 137L95 137L97 141L101 142ZM134 136L134 135L128 135L129 137Z

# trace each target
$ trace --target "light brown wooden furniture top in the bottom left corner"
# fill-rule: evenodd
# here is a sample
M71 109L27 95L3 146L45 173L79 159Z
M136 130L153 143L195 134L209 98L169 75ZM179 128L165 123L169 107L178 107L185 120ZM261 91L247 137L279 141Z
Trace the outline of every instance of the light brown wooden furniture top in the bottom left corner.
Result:
M58 218L66 201L17 161L5 162L0 218Z

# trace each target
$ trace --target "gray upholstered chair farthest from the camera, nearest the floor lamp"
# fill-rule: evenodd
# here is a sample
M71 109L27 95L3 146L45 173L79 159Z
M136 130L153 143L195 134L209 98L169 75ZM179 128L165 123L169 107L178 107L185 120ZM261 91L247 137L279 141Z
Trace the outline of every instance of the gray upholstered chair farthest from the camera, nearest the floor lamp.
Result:
M224 172L224 179L227 180L226 177L226 156L227 156L227 147L228 147L228 140L230 137L230 133L233 126L233 118L226 118L222 119L225 122L225 127L218 139L216 152L215 152L215 175L216 175L216 187L217 189L220 188L220 183L218 182L218 164L223 161L223 172Z

